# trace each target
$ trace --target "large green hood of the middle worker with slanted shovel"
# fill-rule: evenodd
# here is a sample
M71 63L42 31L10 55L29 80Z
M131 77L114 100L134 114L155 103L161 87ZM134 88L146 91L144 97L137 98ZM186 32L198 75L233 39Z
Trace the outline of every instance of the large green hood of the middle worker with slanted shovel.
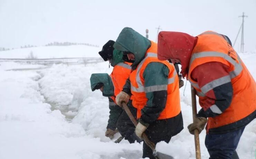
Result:
M150 40L143 37L132 28L125 27L119 34L113 47L120 51L132 52L135 56L135 61L131 66L134 68L144 58L150 45Z

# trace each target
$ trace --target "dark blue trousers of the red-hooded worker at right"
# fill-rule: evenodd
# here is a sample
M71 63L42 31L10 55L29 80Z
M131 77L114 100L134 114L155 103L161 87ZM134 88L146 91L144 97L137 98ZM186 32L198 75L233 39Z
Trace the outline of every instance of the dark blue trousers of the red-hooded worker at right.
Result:
M207 134L205 146L209 159L239 159L236 148L245 127L223 134Z

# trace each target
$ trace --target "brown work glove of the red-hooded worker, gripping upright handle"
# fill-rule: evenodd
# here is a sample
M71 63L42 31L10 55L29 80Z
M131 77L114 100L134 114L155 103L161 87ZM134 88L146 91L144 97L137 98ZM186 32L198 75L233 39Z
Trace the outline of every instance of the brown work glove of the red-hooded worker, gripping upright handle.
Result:
M199 133L201 133L203 128L205 128L206 123L207 123L207 118L205 118L205 117L196 117L195 122L193 122L192 124L190 124L188 126L188 130L192 135L194 135L194 130L195 129L198 129Z

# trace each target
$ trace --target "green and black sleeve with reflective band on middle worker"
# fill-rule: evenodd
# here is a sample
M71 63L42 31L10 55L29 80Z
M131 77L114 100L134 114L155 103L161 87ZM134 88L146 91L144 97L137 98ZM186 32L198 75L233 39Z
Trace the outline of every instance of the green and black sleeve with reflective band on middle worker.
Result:
M157 120L167 100L169 69L160 62L151 62L143 72L144 87L148 101L141 110L140 122L150 124Z

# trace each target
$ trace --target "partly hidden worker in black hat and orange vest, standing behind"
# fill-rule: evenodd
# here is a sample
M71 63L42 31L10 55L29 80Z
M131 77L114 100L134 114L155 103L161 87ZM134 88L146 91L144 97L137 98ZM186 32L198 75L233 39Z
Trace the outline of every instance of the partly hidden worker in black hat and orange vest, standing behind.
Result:
M115 41L109 40L106 44L104 44L102 50L99 51L99 55L103 58L103 60L109 61L110 65L113 67L113 71L110 74L110 77L114 86L114 95L111 96L112 106L110 105L110 118L108 120L108 126L105 135L107 137L112 137L116 132L115 128L117 127L120 134L130 143L134 143L135 141L141 142L141 140L136 137L134 133L135 127L126 112L121 108L122 111L120 113L120 107L116 105L115 97L122 90L126 79L129 78L132 63L125 62L122 59L123 54L121 51L115 50L113 48L114 43ZM132 106L131 100L127 106L132 112L132 115L136 117L137 110Z

